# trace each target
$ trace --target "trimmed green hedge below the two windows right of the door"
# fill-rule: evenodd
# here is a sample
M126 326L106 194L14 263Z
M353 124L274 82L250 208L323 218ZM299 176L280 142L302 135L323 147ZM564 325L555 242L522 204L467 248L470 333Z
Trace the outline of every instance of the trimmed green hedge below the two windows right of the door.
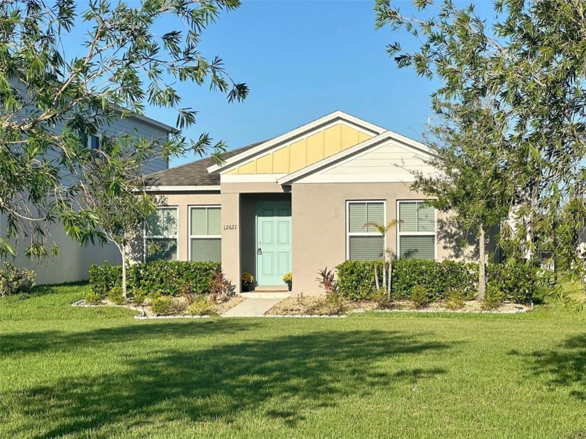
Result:
M352 300L369 299L375 292L374 265L382 285L382 261L345 261L336 267L340 293ZM527 303L535 292L535 269L524 263L489 263L488 282L504 294L505 300ZM465 299L476 297L478 263L398 259L393 262L393 299L410 298L414 286L423 286L431 300L446 298L451 291Z

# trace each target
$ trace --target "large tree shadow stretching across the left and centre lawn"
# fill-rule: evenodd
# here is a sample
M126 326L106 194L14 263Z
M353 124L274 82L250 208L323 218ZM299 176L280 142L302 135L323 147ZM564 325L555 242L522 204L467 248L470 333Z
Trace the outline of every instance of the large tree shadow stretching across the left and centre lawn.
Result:
M118 337L108 331L84 333L71 342ZM133 337L140 332L136 327L119 331L135 331ZM231 423L246 414L294 427L310 411L446 373L424 367L388 372L382 364L404 358L408 365L419 355L425 362L423 355L451 348L431 339L430 334L373 330L310 332L199 351L133 353L125 356L123 371L71 376L0 397L10 396L11 409L27 415L29 424L13 433L36 438L86 436L96 429L107 435L121 426L161 422ZM39 424L46 424L43 433Z

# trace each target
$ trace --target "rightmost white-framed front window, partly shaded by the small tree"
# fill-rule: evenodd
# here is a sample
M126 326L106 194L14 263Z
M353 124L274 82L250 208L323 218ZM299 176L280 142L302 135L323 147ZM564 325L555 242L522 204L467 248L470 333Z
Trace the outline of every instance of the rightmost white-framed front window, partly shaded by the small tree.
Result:
M435 259L435 208L424 201L399 201L399 256Z

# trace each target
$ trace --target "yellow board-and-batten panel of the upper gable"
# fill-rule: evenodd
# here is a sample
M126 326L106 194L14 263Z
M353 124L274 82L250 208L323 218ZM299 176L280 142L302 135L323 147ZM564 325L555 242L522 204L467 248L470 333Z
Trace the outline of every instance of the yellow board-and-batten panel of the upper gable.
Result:
M261 155L227 174L290 174L350 146L360 144L370 137L372 135L338 123Z

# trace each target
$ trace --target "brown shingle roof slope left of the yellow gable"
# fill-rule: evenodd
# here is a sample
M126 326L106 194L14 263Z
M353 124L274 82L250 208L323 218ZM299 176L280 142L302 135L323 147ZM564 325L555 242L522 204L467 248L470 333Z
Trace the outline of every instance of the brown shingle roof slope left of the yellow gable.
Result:
M255 144L243 146L242 148L227 151L222 154L223 160L233 157L236 154L254 148L264 143L266 140L258 141ZM148 186L216 186L220 184L220 174L214 172L209 174L207 169L214 164L211 157L202 160L181 164L165 171L153 172L146 176Z

